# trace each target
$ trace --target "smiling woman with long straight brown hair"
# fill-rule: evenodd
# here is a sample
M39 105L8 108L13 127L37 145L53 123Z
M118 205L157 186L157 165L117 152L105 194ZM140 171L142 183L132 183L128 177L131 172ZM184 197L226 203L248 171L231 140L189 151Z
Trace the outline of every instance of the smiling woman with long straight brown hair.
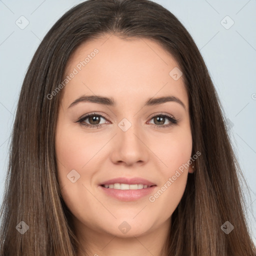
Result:
M177 18L147 0L85 1L24 78L0 255L256 255L239 171Z

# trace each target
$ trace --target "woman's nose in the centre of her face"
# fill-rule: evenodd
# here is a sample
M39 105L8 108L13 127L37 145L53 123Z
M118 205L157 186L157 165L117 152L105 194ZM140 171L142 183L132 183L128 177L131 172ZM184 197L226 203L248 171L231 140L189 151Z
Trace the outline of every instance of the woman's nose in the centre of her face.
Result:
M121 127L121 126L120 126ZM125 131L116 127L117 134L112 141L111 160L115 164L144 164L149 159L150 150L142 127L131 124Z

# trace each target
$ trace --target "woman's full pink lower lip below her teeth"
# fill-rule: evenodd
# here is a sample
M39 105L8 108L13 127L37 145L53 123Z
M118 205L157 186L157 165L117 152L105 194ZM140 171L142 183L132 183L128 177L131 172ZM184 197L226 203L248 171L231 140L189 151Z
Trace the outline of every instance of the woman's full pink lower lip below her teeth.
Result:
M156 186L149 186L147 188L141 189L113 189L113 188L106 188L104 186L99 185L100 189L103 190L107 195L112 196L118 200L122 201L134 201L137 199L146 196L154 190Z

